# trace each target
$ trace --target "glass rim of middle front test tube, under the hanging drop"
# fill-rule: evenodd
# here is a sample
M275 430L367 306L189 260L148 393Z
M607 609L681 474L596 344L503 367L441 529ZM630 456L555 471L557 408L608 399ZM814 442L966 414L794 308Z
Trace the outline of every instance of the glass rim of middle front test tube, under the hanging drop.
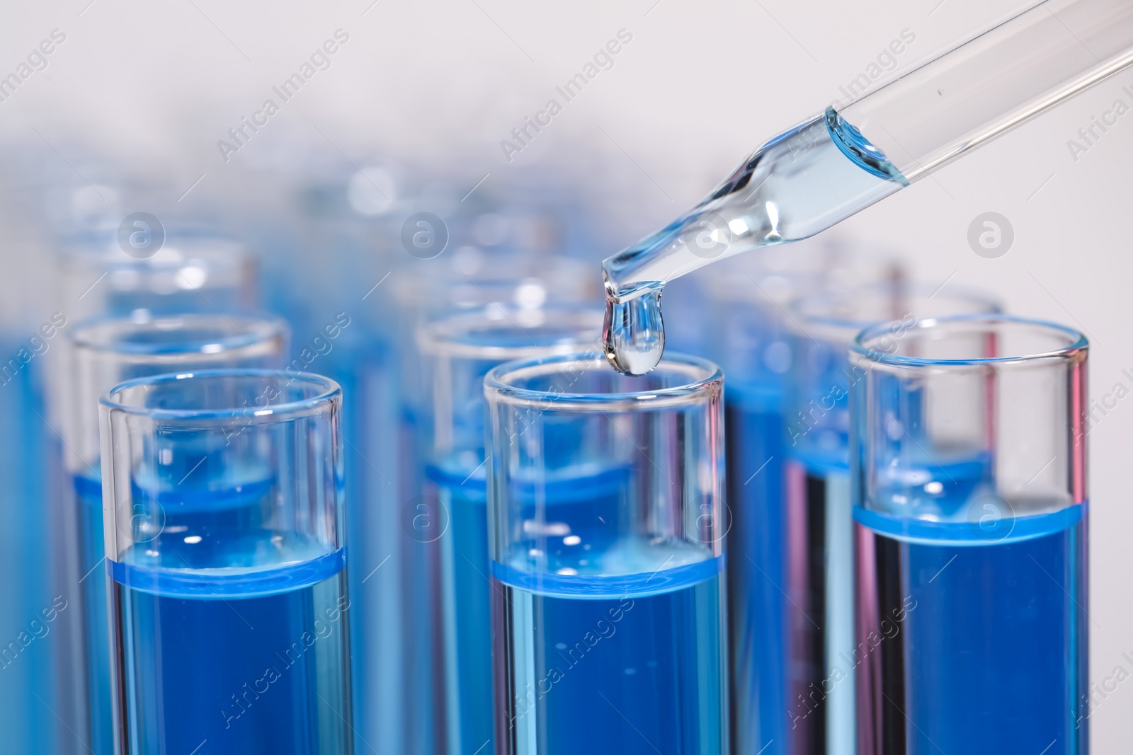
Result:
M649 376L665 371L688 378L680 385L617 393L565 393L537 391L513 385L511 381L566 372L570 368L599 370L615 379L629 379L610 368L604 354L555 354L528 360L514 360L494 367L484 377L484 393L489 402L533 405L547 411L574 412L640 412L656 409L685 406L698 401L710 401L723 395L724 371L718 364L701 357L666 352ZM570 371L576 372L577 369ZM644 377L644 376L641 376Z

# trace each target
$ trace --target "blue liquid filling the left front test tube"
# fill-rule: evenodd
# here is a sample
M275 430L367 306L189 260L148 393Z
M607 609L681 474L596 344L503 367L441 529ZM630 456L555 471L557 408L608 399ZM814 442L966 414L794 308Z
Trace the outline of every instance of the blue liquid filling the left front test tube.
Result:
M181 456L174 489L135 487L136 542L108 560L128 752L351 752L344 551L269 529L262 472L214 480Z

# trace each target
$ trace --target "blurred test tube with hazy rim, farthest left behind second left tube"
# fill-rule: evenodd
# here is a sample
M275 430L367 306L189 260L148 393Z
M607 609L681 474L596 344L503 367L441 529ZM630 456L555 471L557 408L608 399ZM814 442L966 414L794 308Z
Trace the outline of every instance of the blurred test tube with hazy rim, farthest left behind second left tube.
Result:
M103 205L97 195L94 198L100 206ZM135 249L127 242L126 248L131 251L127 254L112 231L75 234L59 243L56 260L58 280L51 323L63 335L54 338L58 343L52 344L43 358L42 371L48 395L48 411L43 412L43 419L51 427L49 478L66 480L66 484L54 486L50 490L52 515L58 523L51 542L53 580L58 584L58 594L71 601L75 619L83 614L82 600L75 595L88 589L93 577L78 582L90 566L80 568L79 564L82 549L77 543L82 535L73 515L75 501L70 484L76 466L74 460L66 460L71 452L63 441L76 446L71 427L78 412L75 402L83 392L83 386L74 383L75 355L71 338L67 334L79 324L96 317L134 316L145 319L181 312L215 315L219 311L249 311L256 294L255 259L250 250L236 241L173 229L162 234L157 226L151 228L146 241L152 244L147 249ZM95 407L99 393L117 381L111 380L85 394L90 428L87 434L94 441L97 440ZM91 469L97 470L96 460L95 456ZM100 554L97 560L101 558L101 548L95 552ZM101 585L101 578L99 582ZM110 746L109 735L96 737L91 732L90 695L85 694L87 681L75 678L75 672L87 666L87 633L84 621L67 615L69 610L65 610L62 620L56 623L59 640L54 652L60 657L60 686L63 693L52 707L63 721L65 731L73 729L86 743L102 743L92 745L101 755ZM67 744L76 747L76 753L87 752L75 736L70 732L67 736L74 739Z

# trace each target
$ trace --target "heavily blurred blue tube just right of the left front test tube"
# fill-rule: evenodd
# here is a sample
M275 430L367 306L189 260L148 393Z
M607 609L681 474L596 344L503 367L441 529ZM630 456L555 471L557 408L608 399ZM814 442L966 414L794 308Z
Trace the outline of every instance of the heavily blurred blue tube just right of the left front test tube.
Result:
M399 453L408 438L399 427L394 342L403 317L393 311L397 297L383 297L391 281L370 290L393 260L375 254L374 221L350 208L343 183L304 185L296 197L299 226L281 225L274 215L259 218L256 233L271 250L259 260L259 289L266 309L291 325L289 364L299 369L296 361L301 366L317 353L304 369L333 378L347 397L341 420L355 752L434 755L429 664L436 647L427 637L435 624L428 616L410 618L410 607L432 593L418 582L425 578L414 560L418 543L400 523L402 506L419 495L400 487L406 467ZM327 256L306 254L312 243ZM361 303L346 306L346 291ZM350 325L329 337L325 326L343 310ZM316 349L325 344L330 353Z

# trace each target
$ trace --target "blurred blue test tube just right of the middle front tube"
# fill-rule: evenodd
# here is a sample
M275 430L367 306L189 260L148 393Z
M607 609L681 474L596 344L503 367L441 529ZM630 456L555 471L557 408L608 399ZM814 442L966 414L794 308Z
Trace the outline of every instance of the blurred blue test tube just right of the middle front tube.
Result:
M706 355L727 376L727 617L732 749L786 752L791 604L783 599L784 394L795 359L786 307L802 294L900 281L895 258L846 240L807 240L696 274ZM666 297L668 293L666 293ZM673 302L667 309L674 312ZM672 329L671 327L668 328ZM776 744L777 743L777 744Z

